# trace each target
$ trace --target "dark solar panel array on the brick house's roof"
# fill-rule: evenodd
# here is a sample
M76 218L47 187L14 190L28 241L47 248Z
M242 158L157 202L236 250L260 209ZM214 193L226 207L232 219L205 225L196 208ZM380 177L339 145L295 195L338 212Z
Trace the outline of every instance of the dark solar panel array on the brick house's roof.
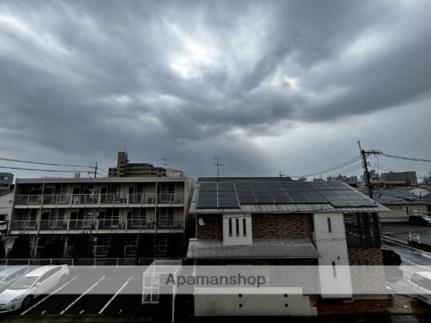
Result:
M239 208L241 204L326 204L372 206L375 202L342 182L201 182L197 207Z

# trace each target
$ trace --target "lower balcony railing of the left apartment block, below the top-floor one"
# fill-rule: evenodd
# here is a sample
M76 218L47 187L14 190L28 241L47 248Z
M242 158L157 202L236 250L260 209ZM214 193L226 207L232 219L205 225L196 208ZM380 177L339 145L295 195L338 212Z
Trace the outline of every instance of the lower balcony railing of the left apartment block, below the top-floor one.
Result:
M51 219L51 220L12 220L10 221L12 231L83 231L98 232L103 230L181 230L184 222L181 221L159 221L157 226L154 222L146 221L145 218L136 219Z

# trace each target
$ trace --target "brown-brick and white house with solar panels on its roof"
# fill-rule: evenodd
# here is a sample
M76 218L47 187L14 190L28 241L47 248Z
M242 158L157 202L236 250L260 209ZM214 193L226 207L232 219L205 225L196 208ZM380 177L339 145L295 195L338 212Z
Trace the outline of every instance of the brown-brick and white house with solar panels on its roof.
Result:
M377 212L384 210L341 182L200 178L190 206L196 237L187 259L195 265L326 265L333 270L327 277L319 267L323 297L354 298L352 288L364 282L352 282L348 266L383 263ZM332 295L340 285L342 295ZM315 315L311 296L289 295L287 303L288 294L271 295L269 304L268 295L250 299L195 290L195 314L268 315L270 308L269 315ZM219 302L224 306L214 309Z

